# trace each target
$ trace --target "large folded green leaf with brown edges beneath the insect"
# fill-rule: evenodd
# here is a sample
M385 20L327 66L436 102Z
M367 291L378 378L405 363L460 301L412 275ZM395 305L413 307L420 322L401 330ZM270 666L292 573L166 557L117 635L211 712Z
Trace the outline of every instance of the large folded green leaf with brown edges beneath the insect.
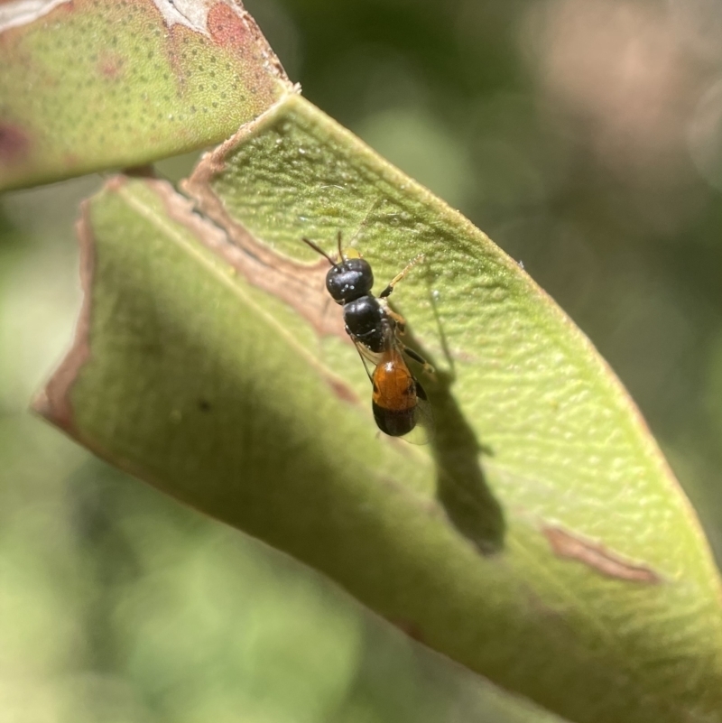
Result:
M38 406L106 459L292 554L579 723L722 720L720 588L624 389L514 261L301 97L185 185L85 209L75 347ZM226 231L221 230L225 228ZM436 416L379 435L323 289L341 230L393 293Z

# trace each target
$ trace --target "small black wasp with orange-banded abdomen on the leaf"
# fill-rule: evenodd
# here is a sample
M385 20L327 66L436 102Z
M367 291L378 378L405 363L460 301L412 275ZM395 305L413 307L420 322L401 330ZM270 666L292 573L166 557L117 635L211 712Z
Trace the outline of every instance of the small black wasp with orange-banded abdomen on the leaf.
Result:
M374 286L371 264L354 249L349 248L344 253L340 231L338 260L310 239L302 240L331 264L326 274L326 289L331 298L343 307L347 334L356 344L356 350L371 380L371 406L376 425L390 437L403 437L416 429L414 439L409 441L427 441L426 433L431 428L430 404L426 392L404 357L412 358L429 373L433 369L421 355L403 344L399 336L403 335L406 322L389 308L386 301L396 283L423 256L414 258L401 273L393 277L383 292L374 296L371 293ZM373 372L369 371L368 363L374 366Z

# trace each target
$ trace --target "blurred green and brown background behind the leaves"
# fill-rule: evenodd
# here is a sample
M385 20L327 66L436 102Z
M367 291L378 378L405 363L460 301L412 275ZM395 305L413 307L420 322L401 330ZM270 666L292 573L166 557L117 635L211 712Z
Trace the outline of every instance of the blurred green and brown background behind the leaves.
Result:
M588 334L722 559L722 0L246 6L306 97ZM26 412L99 183L0 199L0 720L542 720Z

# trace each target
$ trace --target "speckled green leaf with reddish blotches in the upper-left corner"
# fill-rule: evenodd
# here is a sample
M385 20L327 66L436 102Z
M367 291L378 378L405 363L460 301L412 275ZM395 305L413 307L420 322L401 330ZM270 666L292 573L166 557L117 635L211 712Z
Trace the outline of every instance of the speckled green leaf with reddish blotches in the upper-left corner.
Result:
M239 5L0 8L0 190L217 144L292 91Z

